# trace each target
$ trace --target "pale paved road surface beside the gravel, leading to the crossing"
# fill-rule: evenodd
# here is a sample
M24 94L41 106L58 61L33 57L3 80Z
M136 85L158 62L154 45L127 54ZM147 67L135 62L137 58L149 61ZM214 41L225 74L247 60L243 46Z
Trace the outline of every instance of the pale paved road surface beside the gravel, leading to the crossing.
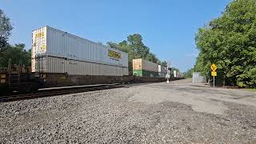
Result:
M179 102L193 110L212 114L225 114L225 102L256 106L256 93L245 90L213 88L206 84L193 84L191 79L139 86L134 101L146 103Z

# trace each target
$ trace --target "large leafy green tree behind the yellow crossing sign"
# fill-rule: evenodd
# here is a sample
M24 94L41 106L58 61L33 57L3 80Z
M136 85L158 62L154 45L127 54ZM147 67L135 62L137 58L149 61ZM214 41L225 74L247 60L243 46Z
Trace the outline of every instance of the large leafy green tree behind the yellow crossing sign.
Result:
M234 0L222 16L198 30L200 53L194 70L210 77L218 67L218 84L256 87L256 1Z

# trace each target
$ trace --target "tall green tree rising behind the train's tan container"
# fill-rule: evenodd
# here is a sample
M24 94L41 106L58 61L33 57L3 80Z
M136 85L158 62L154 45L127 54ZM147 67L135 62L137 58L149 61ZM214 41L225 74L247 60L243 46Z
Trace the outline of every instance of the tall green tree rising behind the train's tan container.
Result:
M136 58L143 58L150 62L162 64L163 66L166 65L166 62L161 62L155 54L150 52L150 48L145 46L142 42L142 36L140 34L131 34L127 37L127 41L124 40L119 43L107 42L107 46L128 53L128 67L130 74L132 74L132 61Z

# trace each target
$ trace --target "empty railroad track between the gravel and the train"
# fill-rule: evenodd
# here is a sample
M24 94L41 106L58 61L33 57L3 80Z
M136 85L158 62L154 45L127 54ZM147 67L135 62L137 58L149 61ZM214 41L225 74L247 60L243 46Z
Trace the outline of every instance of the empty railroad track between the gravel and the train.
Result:
M44 97L52 97L63 94L76 94L82 93L86 91L94 91L94 90L106 90L106 89L114 89L118 87L123 87L120 84L102 84L102 85L93 85L93 86L78 86L78 87L65 87L65 88L54 88L54 89L46 89L40 90L37 93L30 94L12 94L0 97L0 102L13 102L25 99L33 99L33 98L44 98Z

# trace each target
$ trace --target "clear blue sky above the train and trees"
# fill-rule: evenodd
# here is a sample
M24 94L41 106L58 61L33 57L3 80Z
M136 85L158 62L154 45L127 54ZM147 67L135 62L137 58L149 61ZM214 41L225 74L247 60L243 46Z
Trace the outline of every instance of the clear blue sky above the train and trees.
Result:
M198 55L198 29L231 0L0 0L14 26L10 43L31 47L32 30L52 26L94 42L122 42L141 34L150 51L182 72Z

